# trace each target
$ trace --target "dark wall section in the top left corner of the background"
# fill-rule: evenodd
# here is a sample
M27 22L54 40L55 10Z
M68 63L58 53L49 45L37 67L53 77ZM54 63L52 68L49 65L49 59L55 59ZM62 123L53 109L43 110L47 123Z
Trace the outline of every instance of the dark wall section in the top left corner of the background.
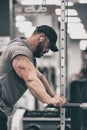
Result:
M10 35L9 1L0 0L0 36Z

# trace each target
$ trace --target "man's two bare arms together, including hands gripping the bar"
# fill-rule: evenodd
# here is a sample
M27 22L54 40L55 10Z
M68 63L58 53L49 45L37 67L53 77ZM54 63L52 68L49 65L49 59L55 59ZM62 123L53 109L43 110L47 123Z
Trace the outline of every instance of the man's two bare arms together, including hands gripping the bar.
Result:
M30 92L42 103L52 103L57 106L66 102L61 97L55 96L45 77L37 72L29 58L22 55L16 56L12 65L17 75L25 81Z

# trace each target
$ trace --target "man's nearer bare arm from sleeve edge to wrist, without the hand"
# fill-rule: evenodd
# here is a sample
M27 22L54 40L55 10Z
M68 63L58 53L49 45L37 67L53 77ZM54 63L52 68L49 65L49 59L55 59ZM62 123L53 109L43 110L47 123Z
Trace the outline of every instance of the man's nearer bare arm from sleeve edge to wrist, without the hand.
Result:
M13 60L13 68L36 98L43 103L50 103L51 97L37 77L36 68L26 56L16 56Z

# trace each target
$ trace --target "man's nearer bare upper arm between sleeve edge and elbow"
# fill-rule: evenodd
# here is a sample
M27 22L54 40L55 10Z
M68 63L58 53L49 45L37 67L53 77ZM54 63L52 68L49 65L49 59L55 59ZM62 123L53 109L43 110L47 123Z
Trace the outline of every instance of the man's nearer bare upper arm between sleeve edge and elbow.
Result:
M12 61L13 68L18 76L23 78L25 81L29 77L33 77L37 75L36 69L33 63L26 56L16 56Z

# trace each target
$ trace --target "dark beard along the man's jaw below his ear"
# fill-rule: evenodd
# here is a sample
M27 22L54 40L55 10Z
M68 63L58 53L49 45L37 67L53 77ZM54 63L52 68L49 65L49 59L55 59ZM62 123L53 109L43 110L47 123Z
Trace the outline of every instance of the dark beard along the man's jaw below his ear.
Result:
M39 42L35 52L33 53L34 56L37 58L40 58L41 56L43 56L42 50L43 50L43 42Z

